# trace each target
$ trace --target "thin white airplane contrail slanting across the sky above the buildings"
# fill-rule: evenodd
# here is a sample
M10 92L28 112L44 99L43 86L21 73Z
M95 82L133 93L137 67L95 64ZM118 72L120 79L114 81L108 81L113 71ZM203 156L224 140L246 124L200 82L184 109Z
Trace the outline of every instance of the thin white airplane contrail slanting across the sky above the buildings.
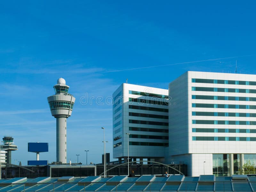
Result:
M215 60L223 60L223 59L234 59L234 58L239 58L239 57L250 57L250 56L255 56L255 55L243 55L243 56L236 56L236 57L223 57L223 58L217 58L217 59L207 59L207 60L199 60L199 61L187 61L187 62L182 62L182 63L173 63L173 64L165 64L165 65L155 65L155 66L148 66L148 67L139 67L139 68L130 68L130 69L118 69L118 70L113 70L113 71L99 72L99 73L95 73L95 74L100 74L100 73L112 73L112 72L120 72L120 71L130 71L130 70L146 69L146 68L154 68L154 67L164 67L164 66L171 66L171 65L188 64L188 63L199 63L199 62L204 62L204 61L215 61Z

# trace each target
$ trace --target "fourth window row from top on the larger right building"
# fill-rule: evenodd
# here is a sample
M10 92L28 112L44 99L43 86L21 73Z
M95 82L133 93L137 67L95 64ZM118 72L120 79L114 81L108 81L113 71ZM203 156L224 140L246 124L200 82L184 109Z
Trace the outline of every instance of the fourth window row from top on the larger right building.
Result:
M226 109L256 109L256 105L231 105L231 104L210 104L210 103L192 103L192 107L226 108Z

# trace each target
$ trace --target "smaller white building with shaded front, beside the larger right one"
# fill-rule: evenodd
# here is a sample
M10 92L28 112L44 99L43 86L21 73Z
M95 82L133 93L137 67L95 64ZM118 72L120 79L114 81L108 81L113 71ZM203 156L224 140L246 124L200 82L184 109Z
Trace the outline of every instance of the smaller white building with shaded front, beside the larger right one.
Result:
M129 136L129 158L163 161L168 147L168 90L122 84L113 101L113 158L127 161Z

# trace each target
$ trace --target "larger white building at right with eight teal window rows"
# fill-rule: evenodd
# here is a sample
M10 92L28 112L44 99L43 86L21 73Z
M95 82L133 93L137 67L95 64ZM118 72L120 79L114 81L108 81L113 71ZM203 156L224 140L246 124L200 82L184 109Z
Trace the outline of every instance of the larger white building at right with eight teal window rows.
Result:
M188 176L212 174L212 154L256 154L256 75L188 71L169 96L169 155Z

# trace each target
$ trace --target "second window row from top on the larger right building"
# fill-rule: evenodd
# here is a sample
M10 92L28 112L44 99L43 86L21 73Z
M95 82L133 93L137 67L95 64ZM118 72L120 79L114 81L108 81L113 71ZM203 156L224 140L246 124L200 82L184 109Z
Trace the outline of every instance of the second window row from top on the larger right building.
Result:
M192 91L229 92L229 93L256 93L256 89L234 89L213 87L192 87Z

